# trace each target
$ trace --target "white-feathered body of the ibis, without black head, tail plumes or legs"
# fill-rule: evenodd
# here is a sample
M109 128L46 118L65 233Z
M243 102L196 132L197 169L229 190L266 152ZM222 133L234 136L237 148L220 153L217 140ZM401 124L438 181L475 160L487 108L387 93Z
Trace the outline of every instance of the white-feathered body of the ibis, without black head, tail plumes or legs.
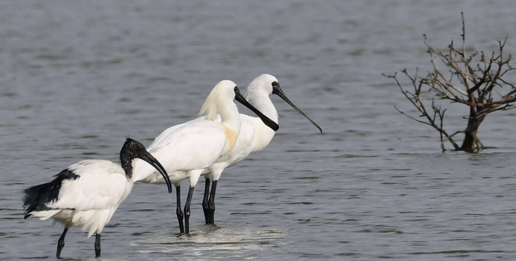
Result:
M41 220L54 218L66 227L80 227L88 231L88 237L100 234L131 193L134 181L126 178L119 164L105 160L81 161L68 170L78 177L62 180L59 198L46 204L53 209L28 214Z

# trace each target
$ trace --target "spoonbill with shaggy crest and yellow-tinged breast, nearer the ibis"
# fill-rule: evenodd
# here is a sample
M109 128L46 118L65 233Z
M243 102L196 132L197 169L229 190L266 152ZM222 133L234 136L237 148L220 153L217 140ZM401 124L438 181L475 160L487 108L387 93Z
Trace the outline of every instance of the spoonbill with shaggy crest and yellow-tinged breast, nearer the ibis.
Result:
M170 127L147 148L163 163L176 188L176 215L181 233L189 233L191 197L202 172L235 146L240 133L240 116L233 99L256 113L268 128L278 130L274 121L246 101L234 82L223 80L215 85L204 101L200 113L205 114L205 120L196 119ZM220 123L215 122L217 114L220 115ZM139 167L139 162L136 162L135 180L154 183L160 179L153 168ZM184 214L180 197L180 183L183 179L189 179L190 182Z

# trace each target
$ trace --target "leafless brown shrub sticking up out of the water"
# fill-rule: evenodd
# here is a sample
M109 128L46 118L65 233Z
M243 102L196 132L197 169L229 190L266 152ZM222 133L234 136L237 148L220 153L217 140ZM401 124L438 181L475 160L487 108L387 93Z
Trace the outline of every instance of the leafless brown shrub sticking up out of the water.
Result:
M397 74L384 74L396 81L401 93L421 115L416 118L400 111L397 107L395 107L396 110L415 121L436 129L441 135L443 151L446 150L444 145L446 142L453 145L455 150L467 152L478 152L485 148L477 137L478 127L489 113L512 109L514 108L512 102L516 101L516 86L504 80L506 74L514 70L510 64L511 55L504 56L503 53L507 38L498 41L498 50L493 51L490 55L478 50L471 55L466 55L465 35L463 14L460 49L455 47L452 40L445 52L437 50L427 42L426 35L424 35L433 71L428 72L425 77L419 77L417 68L414 76L411 76L407 69L402 69L400 71L402 75L411 81L409 86L401 86ZM430 93L432 97L423 97L422 94L425 93L426 95ZM436 102L440 100L460 103L469 107L469 116L464 116L467 119L467 126L464 130L451 134L445 131L443 120L446 109L436 105ZM454 140L454 136L458 133L464 134L461 146Z

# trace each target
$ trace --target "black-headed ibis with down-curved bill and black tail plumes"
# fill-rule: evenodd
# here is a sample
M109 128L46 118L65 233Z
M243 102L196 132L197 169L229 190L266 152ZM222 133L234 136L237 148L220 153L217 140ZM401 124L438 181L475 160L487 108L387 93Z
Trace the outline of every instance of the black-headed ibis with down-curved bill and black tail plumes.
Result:
M141 143L131 138L127 138L120 150L121 166L106 160L80 161L58 173L53 181L24 190L25 219L29 216L41 220L53 218L65 224L57 242L57 258L72 226L88 231L88 237L96 233L95 257L100 256L102 229L133 188L136 158L157 169L167 183L168 192L172 192L165 168Z

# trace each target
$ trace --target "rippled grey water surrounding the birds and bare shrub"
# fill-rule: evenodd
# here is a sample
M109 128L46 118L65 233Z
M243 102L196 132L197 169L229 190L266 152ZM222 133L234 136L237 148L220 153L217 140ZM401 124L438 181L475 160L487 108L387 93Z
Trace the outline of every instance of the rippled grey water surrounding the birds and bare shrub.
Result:
M125 136L145 145L193 117L222 79L244 91L262 73L323 129L273 96L280 130L227 169L216 225L203 181L190 235L175 195L137 183L102 233L105 260L516 258L514 116L498 112L477 154L441 152L439 137L392 80L429 69L422 34L495 50L511 1L9 1L0 3L0 257L54 259L60 225L23 219L22 190L84 159L117 161ZM450 132L467 109L448 111ZM187 181L183 183L183 202ZM93 258L72 229L62 256Z

